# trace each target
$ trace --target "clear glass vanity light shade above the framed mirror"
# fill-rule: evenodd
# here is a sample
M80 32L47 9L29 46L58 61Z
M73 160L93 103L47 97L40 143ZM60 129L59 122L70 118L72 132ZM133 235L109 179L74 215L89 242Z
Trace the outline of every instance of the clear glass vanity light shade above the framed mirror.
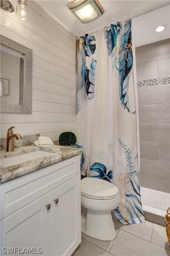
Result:
M30 14L27 0L18 0L16 7L16 17L21 22L29 22Z

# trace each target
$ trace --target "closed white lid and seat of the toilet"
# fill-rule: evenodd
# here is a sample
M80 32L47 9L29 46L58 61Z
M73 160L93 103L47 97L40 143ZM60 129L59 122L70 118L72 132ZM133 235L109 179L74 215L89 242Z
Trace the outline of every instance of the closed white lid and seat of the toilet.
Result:
M117 196L118 189L112 183L98 178L81 180L81 194L98 199L111 199Z

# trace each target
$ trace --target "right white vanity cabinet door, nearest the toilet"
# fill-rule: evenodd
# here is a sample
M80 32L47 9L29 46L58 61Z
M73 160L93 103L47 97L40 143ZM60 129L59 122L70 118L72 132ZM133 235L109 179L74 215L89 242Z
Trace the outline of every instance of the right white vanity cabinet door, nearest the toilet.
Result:
M71 255L81 243L80 175L51 191L51 255ZM55 202L58 198L57 201ZM57 203L57 204L56 204Z

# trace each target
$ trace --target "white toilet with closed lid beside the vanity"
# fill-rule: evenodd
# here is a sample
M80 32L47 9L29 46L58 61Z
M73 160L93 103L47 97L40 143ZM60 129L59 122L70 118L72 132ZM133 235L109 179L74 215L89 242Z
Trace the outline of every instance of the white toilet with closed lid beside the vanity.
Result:
M100 240L113 240L116 232L110 211L119 202L118 189L112 183L98 178L82 179L82 233Z

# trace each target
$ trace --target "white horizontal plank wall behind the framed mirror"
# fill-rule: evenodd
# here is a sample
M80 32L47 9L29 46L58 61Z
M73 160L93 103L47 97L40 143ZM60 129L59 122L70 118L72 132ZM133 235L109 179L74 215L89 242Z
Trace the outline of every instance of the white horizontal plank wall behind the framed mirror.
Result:
M17 1L11 1L14 7ZM29 1L31 21L21 23L0 11L0 33L33 50L32 114L1 113L1 138L7 129L21 135L41 133L58 140L75 131L76 37L35 1Z

